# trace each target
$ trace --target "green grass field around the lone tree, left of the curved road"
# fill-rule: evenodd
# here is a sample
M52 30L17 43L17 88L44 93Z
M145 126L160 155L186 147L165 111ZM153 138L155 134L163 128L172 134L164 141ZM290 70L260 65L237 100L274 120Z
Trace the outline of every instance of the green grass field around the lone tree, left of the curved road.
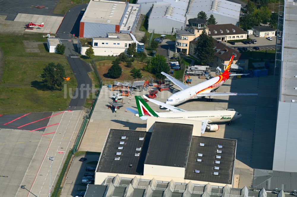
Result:
M25 52L23 41L38 41L38 53ZM65 66L72 92L77 85L74 74L64 55L49 53L47 38L41 34L1 35L0 47L4 55L4 73L0 81L0 114L59 111L67 108L70 97L64 99L64 88L42 91L40 75L50 62Z

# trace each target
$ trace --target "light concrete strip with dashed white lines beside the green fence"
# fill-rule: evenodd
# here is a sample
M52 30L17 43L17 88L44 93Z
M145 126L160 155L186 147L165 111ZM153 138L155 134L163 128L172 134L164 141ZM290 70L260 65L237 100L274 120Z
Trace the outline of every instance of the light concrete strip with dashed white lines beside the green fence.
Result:
M82 123L84 111L65 111L60 116L51 117L49 124L59 122L57 127L48 127L40 139L31 163L25 173L18 192L15 196L47 196L50 181L49 156L54 156L52 164L51 189L59 177L61 168L73 147L78 130ZM33 131L35 133L36 131Z

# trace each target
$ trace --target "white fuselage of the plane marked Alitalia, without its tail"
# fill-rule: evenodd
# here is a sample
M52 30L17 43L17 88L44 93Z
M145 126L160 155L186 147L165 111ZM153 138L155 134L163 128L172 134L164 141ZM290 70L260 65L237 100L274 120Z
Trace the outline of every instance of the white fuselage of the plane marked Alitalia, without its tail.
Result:
M212 122L231 122L242 115L233 110L191 111L191 112L155 112L159 117L184 120L209 120Z

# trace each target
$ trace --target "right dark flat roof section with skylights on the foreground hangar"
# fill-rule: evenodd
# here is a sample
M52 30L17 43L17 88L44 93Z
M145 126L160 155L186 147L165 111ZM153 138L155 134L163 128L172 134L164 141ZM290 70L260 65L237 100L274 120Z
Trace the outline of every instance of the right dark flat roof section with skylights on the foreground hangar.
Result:
M204 146L199 146L200 143L204 143ZM218 145L222 148L218 148ZM217 150L222 153L218 153ZM235 150L236 140L193 136L185 179L232 184ZM216 158L217 156L220 158ZM201 159L201 162L197 162L197 159ZM216 164L216 161L220 163ZM219 169L214 169L215 166ZM200 172L195 173L195 170ZM214 172L219 174L214 175Z

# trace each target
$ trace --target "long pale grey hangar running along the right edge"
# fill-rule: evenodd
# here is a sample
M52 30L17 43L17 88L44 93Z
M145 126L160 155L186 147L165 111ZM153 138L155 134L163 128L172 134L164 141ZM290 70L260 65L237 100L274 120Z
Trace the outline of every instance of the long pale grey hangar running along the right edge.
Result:
M280 20L283 20L284 28L277 33L276 61L280 67L280 83L272 169L297 172L297 13L294 1L285 1L282 15L284 18Z

